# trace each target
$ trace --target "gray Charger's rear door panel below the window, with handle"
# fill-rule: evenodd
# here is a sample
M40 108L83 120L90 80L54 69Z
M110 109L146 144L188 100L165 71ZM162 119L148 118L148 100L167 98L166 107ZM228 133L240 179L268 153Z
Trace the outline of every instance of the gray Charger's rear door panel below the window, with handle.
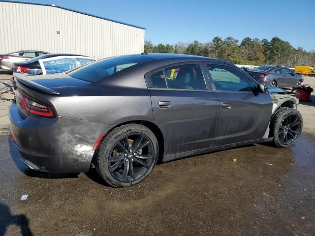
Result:
M219 119L219 101L213 92L149 91L154 122L161 129L165 141L164 155L213 145Z

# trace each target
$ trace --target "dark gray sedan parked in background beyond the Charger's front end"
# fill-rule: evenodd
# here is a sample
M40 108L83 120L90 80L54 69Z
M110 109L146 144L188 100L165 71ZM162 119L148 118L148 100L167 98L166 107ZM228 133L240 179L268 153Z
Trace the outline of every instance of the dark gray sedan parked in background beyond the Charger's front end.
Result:
M284 66L263 65L246 72L257 82L270 87L295 88L303 83L301 75Z

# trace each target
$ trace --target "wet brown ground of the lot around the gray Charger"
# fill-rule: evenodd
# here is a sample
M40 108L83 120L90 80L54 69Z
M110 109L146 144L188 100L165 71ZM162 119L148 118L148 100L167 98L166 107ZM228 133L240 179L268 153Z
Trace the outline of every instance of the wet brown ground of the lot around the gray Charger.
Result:
M0 75L5 78L10 75ZM315 78L305 83L315 88ZM0 236L313 236L314 96L298 110L303 134L291 148L249 145L163 163L125 189L107 186L95 170L33 172L2 135Z

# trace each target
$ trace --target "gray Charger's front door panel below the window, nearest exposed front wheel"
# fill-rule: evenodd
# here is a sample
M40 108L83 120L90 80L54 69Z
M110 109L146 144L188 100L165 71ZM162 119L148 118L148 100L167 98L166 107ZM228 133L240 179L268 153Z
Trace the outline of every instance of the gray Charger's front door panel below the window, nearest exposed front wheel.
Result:
M269 93L216 92L220 119L214 146L260 139L272 114ZM229 104L230 108L224 107Z

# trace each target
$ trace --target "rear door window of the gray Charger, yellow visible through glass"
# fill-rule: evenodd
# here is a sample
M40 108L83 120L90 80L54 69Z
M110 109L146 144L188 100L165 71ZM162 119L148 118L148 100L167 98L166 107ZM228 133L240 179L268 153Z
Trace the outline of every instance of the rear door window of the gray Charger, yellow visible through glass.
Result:
M150 76L153 88L206 90L199 65L181 65L160 70Z

